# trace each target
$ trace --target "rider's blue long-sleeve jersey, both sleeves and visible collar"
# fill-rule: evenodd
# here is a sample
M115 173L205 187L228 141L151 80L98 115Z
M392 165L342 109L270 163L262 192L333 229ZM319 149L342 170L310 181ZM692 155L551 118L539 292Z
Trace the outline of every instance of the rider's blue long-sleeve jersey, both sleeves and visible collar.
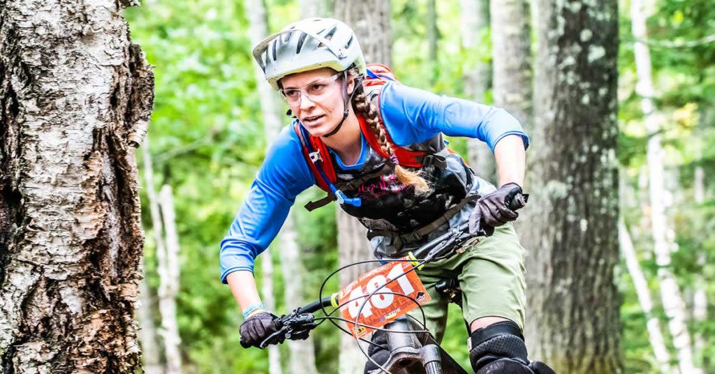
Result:
M424 142L439 132L452 137L472 137L494 149L510 134L528 137L521 124L506 111L454 97L390 82L380 94L380 112L393 142L400 146ZM363 148L369 145L363 139ZM365 149L361 154L365 154ZM340 157L336 168L343 166ZM358 164L350 169L362 166ZM295 197L315 184L302 155L300 139L291 126L275 139L258 170L250 192L221 242L221 281L237 270L253 271L255 257L276 237Z

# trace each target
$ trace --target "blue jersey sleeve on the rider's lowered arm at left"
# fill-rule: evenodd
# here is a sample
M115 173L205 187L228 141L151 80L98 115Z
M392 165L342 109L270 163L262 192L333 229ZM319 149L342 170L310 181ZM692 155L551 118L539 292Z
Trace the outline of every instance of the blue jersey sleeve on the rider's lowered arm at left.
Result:
M315 184L300 140L285 127L268 149L255 180L221 242L221 282L237 270L253 271L257 255L275 239L300 192Z

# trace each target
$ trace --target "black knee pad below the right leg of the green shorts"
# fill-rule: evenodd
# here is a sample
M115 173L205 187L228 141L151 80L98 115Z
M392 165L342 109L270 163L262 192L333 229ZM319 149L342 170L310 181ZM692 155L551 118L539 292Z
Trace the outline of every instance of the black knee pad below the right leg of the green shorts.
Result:
M480 328L470 335L469 342L469 361L475 373L533 373L527 367L524 338L512 321Z

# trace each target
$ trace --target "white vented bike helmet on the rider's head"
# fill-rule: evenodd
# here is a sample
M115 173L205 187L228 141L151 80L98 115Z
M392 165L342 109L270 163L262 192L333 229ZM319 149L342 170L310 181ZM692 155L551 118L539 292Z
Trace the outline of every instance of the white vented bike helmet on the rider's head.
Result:
M355 64L365 74L365 56L347 24L332 18L310 18L285 26L253 49L253 58L273 89L288 74L329 67L337 72Z

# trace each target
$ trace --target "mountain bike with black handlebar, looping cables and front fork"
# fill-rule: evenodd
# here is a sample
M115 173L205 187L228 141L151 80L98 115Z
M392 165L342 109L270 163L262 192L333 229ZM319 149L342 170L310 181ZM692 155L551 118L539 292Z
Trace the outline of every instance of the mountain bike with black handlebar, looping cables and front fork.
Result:
M528 195L518 195L512 199L509 206L512 210L518 210L523 207L526 203ZM485 227L484 225L482 227ZM485 227L479 235L476 237L485 237L491 235L493 228ZM319 298L314 302L310 302L303 307L298 307L293 310L288 315L282 315L273 320L273 324L277 330L267 337L260 344L260 348L265 348L271 344L282 343L285 339L305 339L307 338L310 330L317 328L318 325L329 320L335 327L339 328L345 333L348 333L355 338L356 343L361 340L369 345L377 345L389 352L388 359L380 364L375 361L373 357L365 352L364 348L358 344L358 347L363 352L365 357L368 358L374 365L375 370L371 370L370 374L466 374L465 371L448 353L443 350L439 343L433 338L429 331L425 328L425 316L423 314L422 321L413 318L411 315L401 315L395 318L392 322L386 323L383 326L369 325L360 322L360 317L363 315L363 310L365 307L369 307L369 302L372 301L373 297L388 297L388 295L396 295L398 297L404 297L405 299L413 302L417 307L420 308L420 300L415 297L407 295L407 293L412 292L391 292L391 291L381 291L386 286L390 285L392 282L400 283L400 279L403 276L408 275L410 272L415 272L415 270L420 269L423 265L428 262L434 262L438 260L443 260L453 255L457 255L461 252L465 243L475 240L475 236L468 233L468 223L460 225L450 229L439 237L430 240L430 242L417 248L410 252L410 256L403 259L394 260L366 260L355 262L340 269L335 270L330 275L328 275L320 286ZM355 266L370 262L380 262L380 263L390 263L390 262L407 262L410 264L407 270L403 270L400 274L394 274L392 277L388 277L382 285L375 287L374 290L370 292L365 292L365 294L353 295L350 297L342 297L340 299L339 294L336 292L330 297L322 297L323 289L327 281L333 275L338 272L345 270L345 268L350 266ZM384 265L383 265L384 267ZM369 274L369 273L367 273ZM361 276L362 277L362 276ZM359 280L360 278L358 278ZM421 284L421 282L420 282ZM447 295L450 302L454 302L461 307L461 290L459 288L459 282L454 277L448 277L438 282L435 285L437 292L441 292ZM404 290L404 287L403 287ZM417 297L420 295L418 294ZM340 299L340 301L338 301ZM357 313L354 320L347 318L335 317L333 314L337 311L345 309L346 305L355 305L358 303ZM326 309L328 307L333 307L330 312ZM315 313L321 311L324 316L316 317ZM338 325L336 321L345 322L352 326L352 331L346 330L342 326ZM375 343L370 340L365 340L360 338L358 331L363 328L375 331L384 331L383 336L385 337L384 342ZM247 345L241 343L244 348Z

